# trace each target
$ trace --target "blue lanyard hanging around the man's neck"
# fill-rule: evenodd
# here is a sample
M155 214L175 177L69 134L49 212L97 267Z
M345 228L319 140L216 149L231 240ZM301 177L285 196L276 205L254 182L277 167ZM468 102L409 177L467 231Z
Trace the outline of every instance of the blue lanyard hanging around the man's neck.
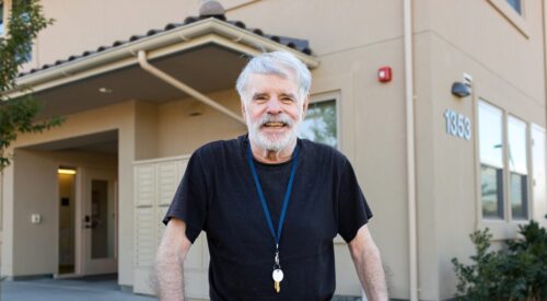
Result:
M276 231L274 230L274 223L271 222L270 211L268 210L268 205L266 204L266 198L264 197L263 188L260 186L260 181L258 180L258 174L256 173L255 164L253 163L253 152L251 150L251 141L247 148L247 160L253 177L255 178L256 190L258 192L258 197L260 198L260 204L263 205L264 215L266 216L266 221L268 222L268 228L270 229L271 235L274 236L276 243L276 250L279 245L279 239L281 238L281 229L283 228L284 217L287 215L287 207L289 205L289 199L292 190L292 183L294 182L294 174L296 173L296 163L299 161L299 149L294 147L294 153L292 155L291 175L289 177L289 184L287 184L287 192L284 193L283 207L281 209L281 216L279 217L279 224Z

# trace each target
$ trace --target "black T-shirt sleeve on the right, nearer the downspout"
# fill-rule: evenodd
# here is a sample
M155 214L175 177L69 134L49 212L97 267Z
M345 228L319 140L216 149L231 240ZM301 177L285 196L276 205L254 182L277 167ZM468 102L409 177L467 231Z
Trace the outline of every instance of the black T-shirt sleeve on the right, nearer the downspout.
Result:
M338 233L346 242L350 242L356 238L357 231L372 218L372 211L347 159L338 183Z

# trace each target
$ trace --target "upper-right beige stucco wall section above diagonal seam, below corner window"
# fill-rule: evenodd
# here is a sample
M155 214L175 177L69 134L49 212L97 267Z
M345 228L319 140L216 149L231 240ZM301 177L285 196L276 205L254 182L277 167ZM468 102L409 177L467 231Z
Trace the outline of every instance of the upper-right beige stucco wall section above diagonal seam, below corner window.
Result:
M514 86L545 106L543 1L523 1L521 19L526 34L492 4L504 1L449 2L431 1L432 33L503 80L503 85ZM444 56L452 59L449 53ZM545 109L543 113L545 119Z

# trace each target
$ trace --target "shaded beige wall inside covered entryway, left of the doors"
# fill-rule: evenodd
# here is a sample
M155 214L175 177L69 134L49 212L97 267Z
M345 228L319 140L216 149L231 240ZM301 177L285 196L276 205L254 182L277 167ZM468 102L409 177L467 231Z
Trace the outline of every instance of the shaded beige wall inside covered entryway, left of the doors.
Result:
M15 184L13 224L5 229L12 230L14 238L33 238L33 240L5 242L4 246L12 248L13 256L11 262L4 258L5 264L11 264L11 275L48 274L57 268L58 257L58 244L55 243L58 236L55 202L58 188L56 165L54 162L39 160L39 155L24 151L16 151L15 155L21 158L21 161L18 161L18 165L13 164ZM55 198L48 198L48 195ZM39 213L42 223L31 224L32 213Z

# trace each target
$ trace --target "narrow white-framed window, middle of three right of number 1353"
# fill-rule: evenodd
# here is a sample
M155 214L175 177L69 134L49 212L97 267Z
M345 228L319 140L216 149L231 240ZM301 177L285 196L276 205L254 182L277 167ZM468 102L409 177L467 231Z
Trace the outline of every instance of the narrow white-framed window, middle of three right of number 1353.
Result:
M511 216L513 219L525 220L528 218L526 124L512 116L508 118L508 157Z

